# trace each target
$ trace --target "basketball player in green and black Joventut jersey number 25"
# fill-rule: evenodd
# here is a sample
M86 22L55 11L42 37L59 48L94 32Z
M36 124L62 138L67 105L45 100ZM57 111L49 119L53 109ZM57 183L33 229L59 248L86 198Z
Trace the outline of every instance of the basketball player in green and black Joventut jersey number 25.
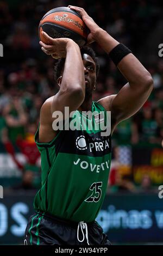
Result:
M95 221L101 209L111 160L111 134L120 121L135 114L152 92L153 80L149 72L131 51L112 38L87 15L83 8L69 6L82 15L90 30L88 42L96 41L109 54L128 83L116 95L92 101L99 65L91 48L79 46L71 39L52 39L42 50L59 59L55 77L59 92L43 103L40 125L35 141L41 153L42 187L34 200L35 214L26 228L28 245L110 245L108 237ZM111 111L111 132L101 135L101 128L90 131L86 125L80 130L54 130L53 121L65 107L75 111L76 120L97 123ZM90 120L82 111L103 113ZM71 120L73 120L74 116Z

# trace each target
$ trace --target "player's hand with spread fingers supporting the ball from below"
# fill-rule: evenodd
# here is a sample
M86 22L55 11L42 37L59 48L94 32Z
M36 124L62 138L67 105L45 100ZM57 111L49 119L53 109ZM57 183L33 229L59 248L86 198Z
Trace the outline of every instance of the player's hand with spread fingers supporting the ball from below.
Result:
M47 55L52 55L54 59L61 59L66 57L66 48L68 44L76 44L70 38L51 38L46 32L42 31L43 36L48 41L48 45L40 41L41 50ZM77 44L76 44L77 45Z

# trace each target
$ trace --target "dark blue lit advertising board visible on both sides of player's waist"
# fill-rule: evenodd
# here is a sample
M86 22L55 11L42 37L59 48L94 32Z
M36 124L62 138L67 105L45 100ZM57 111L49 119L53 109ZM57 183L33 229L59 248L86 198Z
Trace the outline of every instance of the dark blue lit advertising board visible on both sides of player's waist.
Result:
M33 199L29 192L4 193L0 199L0 245L23 244L28 218L34 212ZM162 200L158 194L110 194L97 221L113 244L163 243Z

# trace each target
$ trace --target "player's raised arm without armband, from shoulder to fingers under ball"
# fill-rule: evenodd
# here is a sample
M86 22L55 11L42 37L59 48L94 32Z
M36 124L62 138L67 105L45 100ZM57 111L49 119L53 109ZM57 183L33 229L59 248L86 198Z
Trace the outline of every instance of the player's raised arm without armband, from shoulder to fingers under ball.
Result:
M65 58L64 69L61 70L61 76L58 79L60 86L59 92L50 97L43 103L40 112L40 139L42 142L54 138L52 123L54 111L61 111L64 116L65 107L69 107L69 112L78 109L85 97L85 78L83 60L80 48L71 39L58 38L52 39L45 32L49 45L40 42L42 51L53 58ZM45 134L48 138L45 138ZM44 136L41 136L44 135Z

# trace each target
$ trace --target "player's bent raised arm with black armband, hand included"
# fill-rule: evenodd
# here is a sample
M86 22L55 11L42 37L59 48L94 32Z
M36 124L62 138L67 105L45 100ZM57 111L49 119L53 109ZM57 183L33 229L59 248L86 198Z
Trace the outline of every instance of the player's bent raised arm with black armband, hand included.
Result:
M153 89L152 76L127 47L100 28L83 8L72 6L70 8L82 15L86 26L90 29L89 42L96 41L109 54L128 81L117 95L106 96L99 100L99 103L111 111L113 130L120 121L136 113L146 102Z

